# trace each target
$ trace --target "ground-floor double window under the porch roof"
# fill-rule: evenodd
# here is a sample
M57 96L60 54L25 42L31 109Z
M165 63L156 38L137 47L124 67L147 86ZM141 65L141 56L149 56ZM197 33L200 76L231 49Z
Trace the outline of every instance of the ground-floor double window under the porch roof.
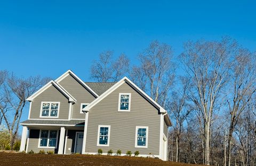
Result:
M40 130L38 147L57 147L58 130Z

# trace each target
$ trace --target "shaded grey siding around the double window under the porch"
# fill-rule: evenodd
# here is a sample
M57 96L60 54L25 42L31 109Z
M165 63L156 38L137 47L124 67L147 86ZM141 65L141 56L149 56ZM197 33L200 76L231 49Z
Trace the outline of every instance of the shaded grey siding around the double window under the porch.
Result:
M38 148L39 133L40 133L39 129L30 129L29 130L28 152L33 150L35 153L38 153L40 150L44 150L45 153L47 151L54 151L54 153L58 153L58 147L59 147L59 141L60 141L59 136L58 136L58 141L57 141L58 142L57 148ZM60 134L60 130L59 130L58 134Z

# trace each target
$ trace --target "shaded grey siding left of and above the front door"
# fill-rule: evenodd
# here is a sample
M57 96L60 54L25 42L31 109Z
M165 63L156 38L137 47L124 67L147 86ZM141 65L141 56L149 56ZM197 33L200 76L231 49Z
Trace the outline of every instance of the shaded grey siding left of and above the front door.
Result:
M84 130L68 130L66 154L75 152L76 132L84 132ZM70 148L70 150L68 150L68 148Z

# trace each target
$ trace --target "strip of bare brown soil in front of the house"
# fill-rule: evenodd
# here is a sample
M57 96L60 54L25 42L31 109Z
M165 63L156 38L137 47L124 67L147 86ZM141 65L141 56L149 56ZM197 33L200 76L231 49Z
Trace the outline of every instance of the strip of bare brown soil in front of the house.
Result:
M184 164L159 159L148 159L129 156L105 156L105 155L58 155L58 154L22 154L0 152L0 165L16 166L193 166L194 164Z

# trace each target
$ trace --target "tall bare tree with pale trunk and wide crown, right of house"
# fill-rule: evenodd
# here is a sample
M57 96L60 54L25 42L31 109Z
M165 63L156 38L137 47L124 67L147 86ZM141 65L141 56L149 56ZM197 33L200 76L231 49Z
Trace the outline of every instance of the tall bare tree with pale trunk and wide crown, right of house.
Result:
M229 57L235 42L228 38L222 41L187 42L180 59L190 77L191 96L204 120L205 164L210 165L210 126L219 93L228 78Z

